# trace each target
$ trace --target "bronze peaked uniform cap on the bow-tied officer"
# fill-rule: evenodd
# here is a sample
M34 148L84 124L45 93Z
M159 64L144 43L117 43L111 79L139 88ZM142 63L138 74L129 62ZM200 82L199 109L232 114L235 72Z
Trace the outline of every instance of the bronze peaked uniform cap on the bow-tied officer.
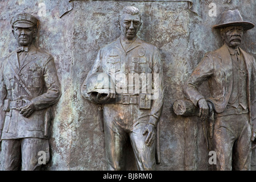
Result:
M38 19L29 13L19 13L13 16L10 23L12 27L28 28L37 26Z

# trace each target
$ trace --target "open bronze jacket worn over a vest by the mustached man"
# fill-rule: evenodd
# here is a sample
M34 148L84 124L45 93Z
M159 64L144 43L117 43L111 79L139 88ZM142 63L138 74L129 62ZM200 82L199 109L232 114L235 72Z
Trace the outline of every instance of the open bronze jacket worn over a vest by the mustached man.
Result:
M247 103L251 119L256 118L256 64L253 56L246 53L241 48L246 65L246 87L247 87ZM205 80L208 80L210 97L207 100L214 105L216 113L224 111L229 102L230 94L233 86L233 65L228 47L224 44L216 51L205 54L204 59L197 65L192 75L184 84L184 93L197 106L200 98L204 98L203 94L197 91L197 87ZM256 120L256 119L254 119ZM255 129L254 129L255 130ZM256 131L256 130L255 130Z

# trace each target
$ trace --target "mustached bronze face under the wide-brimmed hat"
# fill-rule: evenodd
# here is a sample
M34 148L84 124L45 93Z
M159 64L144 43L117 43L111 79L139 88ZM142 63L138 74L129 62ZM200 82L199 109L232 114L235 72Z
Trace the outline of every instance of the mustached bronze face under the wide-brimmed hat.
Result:
M243 27L231 26L223 30L222 37L229 47L236 48L240 45L243 35Z

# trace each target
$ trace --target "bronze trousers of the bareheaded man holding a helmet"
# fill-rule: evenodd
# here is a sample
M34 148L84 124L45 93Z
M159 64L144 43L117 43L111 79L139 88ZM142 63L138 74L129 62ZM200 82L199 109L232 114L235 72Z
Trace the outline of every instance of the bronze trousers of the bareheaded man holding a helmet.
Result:
M104 105L104 133L108 170L125 170L123 148L131 142L138 170L155 170L155 139L146 146L147 133L143 129L150 110L139 110L138 105Z

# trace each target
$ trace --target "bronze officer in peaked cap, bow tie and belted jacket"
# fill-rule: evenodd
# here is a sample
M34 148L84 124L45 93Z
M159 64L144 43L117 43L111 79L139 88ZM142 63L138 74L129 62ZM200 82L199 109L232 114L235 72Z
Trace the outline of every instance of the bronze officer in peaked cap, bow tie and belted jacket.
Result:
M2 170L37 170L49 160L50 106L61 93L53 57L33 43L38 23L28 13L11 19L19 47L3 59L0 72ZM40 156L46 159L39 162Z

